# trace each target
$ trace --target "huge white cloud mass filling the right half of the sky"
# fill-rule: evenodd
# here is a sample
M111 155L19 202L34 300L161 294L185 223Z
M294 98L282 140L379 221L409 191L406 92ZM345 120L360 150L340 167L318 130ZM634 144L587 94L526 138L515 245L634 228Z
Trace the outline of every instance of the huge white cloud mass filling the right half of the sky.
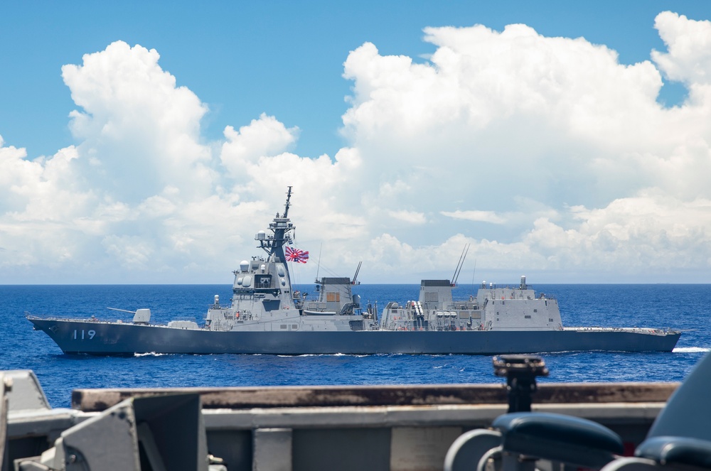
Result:
M387 179L380 188L390 196L384 205L415 202L454 220L508 220L518 228L486 244L468 233L484 259L496 254L491 268L622 267L640 276L648 274L645 266L657 273L705 269L708 221L690 208L710 197L703 180L711 174L704 94L711 23L665 12L655 26L668 53L655 51L652 61L632 65L619 63L604 45L547 38L525 25L501 32L426 28L425 40L437 46L427 63L382 56L366 43L345 63L344 77L354 86L343 133L378 159L380 178ZM662 107L656 101L662 77L699 90L695 99ZM393 158L398 150L406 156ZM653 204L648 195L655 195ZM523 201L539 210L527 212ZM459 208L449 209L451 202ZM476 209L482 206L491 210ZM621 206L629 212L624 223ZM582 217L588 211L609 221L592 230ZM399 240L405 231L390 234ZM670 246L689 250L664 255ZM414 250L423 256L431 248Z

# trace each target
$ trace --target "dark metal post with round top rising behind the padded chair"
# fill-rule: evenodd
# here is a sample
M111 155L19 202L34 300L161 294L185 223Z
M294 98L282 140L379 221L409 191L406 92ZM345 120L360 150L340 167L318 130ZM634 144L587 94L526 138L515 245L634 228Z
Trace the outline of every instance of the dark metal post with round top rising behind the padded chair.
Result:
M536 355L498 355L493 357L496 376L506 377L508 412L530 412L531 394L538 389L537 376L548 376L548 369Z

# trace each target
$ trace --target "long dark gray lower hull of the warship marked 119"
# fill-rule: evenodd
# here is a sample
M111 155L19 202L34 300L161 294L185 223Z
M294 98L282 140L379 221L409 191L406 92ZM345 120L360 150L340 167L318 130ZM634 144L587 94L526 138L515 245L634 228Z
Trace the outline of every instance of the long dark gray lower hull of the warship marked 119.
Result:
M67 354L505 354L575 351L671 352L680 332L564 330L360 330L220 332L30 317Z

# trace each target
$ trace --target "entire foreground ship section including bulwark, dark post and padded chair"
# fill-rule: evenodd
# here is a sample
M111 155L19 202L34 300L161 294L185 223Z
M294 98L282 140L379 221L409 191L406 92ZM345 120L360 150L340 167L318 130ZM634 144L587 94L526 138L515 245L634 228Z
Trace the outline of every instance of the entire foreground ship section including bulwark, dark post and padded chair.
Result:
M506 384L78 389L72 409L51 408L33 372L0 372L1 467L709 469L710 354L681 384L539 386L530 355L493 367Z

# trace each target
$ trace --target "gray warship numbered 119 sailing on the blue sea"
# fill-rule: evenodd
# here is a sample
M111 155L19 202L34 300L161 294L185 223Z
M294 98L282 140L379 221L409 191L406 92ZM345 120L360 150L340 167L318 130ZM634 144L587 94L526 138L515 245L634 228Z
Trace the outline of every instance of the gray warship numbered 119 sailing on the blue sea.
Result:
M638 327L563 327L555 298L537 294L525 277L514 287L482 283L458 301L455 283L423 280L419 299L365 308L351 278L317 281L318 298L292 291L284 248L292 242L292 187L284 213L257 233L254 256L235 270L230 305L218 296L203 325L151 323L139 309L132 322L27 315L66 354L504 354L568 351L670 352L680 332ZM356 275L357 276L357 275ZM355 278L355 276L354 276Z

